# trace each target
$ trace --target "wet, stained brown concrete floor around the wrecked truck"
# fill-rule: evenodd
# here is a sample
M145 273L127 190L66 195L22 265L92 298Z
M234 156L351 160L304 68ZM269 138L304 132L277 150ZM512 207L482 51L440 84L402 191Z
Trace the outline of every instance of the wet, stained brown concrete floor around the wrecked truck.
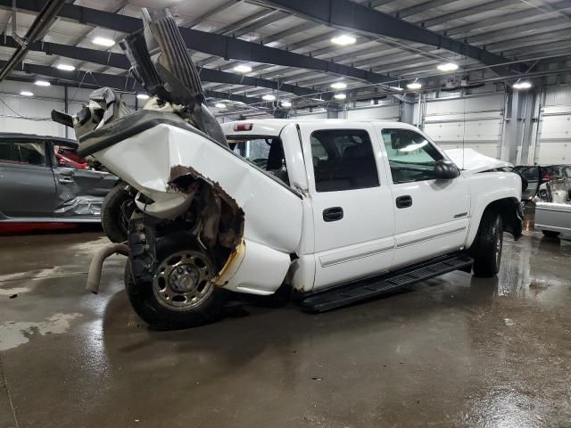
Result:
M452 273L319 316L244 304L149 331L101 233L0 238L0 427L569 427L571 241L505 242ZM17 294L17 297L10 298Z

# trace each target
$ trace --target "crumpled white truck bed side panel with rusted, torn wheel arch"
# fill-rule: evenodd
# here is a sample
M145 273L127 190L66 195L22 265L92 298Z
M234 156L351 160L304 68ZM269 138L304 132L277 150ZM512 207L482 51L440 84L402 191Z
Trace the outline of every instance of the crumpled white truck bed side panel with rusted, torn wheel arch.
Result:
M302 197L206 136L189 134L176 121L170 123L122 139L94 156L159 207L172 196L196 192L191 185L200 178L203 189L210 187L207 195L200 196L203 199L193 194L192 203L202 204L199 212L205 220L201 240L207 246L233 246L228 253L235 254L219 271L219 278L228 281L225 288L275 292L301 241Z

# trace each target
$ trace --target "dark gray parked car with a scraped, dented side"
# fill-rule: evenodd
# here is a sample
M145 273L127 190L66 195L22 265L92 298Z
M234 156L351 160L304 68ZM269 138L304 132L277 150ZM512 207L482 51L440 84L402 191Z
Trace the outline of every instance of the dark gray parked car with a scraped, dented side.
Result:
M87 169L77 149L65 138L0 133L0 221L100 221L117 177Z

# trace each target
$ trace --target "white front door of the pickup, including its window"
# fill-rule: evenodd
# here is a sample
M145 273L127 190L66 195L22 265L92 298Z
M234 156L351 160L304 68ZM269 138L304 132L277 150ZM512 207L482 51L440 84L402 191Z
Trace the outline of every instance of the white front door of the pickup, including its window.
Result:
M377 128L388 159L395 207L393 268L458 251L468 235L470 196L460 177L434 179L434 162L446 159L412 129Z

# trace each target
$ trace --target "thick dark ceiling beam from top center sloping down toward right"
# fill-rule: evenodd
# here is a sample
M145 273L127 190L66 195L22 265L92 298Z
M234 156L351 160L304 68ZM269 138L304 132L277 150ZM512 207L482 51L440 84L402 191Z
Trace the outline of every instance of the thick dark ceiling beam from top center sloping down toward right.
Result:
M353 29L367 34L394 37L401 40L433 45L454 53L474 58L485 65L505 62L501 55L459 42L407 21L401 21L388 13L372 10L350 0L262 0L262 3L299 13L306 19L324 23L337 29ZM497 70L509 72L509 69Z

